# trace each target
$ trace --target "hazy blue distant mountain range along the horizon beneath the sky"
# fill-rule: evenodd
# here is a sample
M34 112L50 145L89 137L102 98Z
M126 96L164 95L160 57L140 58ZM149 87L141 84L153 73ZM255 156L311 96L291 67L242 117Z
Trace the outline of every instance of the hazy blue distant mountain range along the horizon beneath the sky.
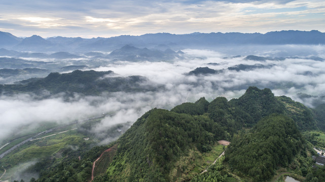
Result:
M324 44L325 33L312 31L274 31L262 33L155 33L140 36L121 35L110 38L50 37L38 35L19 38L0 31L0 48L31 52L111 52L126 44L165 51L211 48L231 44Z

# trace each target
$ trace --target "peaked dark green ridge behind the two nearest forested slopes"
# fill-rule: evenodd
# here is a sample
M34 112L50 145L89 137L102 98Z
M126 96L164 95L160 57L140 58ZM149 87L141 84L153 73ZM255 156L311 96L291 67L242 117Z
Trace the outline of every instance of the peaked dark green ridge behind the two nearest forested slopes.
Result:
M201 98L195 103L176 106L171 111L191 115L205 113L231 134L243 127L254 126L261 118L272 113L291 117L302 131L322 127L323 123L316 122L313 111L303 104L285 96L275 97L269 88L259 89L255 86L248 87L238 99L227 101L226 98L219 97L208 103Z

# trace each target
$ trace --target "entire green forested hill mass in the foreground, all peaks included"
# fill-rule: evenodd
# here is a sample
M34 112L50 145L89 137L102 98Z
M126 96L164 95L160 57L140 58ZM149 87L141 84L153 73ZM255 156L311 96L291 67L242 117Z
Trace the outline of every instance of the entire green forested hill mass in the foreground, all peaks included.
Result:
M301 131L319 128L323 122L315 120L314 113L290 98L275 97L270 89L257 87L249 87L242 97L230 101L201 98L171 111L155 108L107 146L96 162L93 181L266 181L280 167L301 171L311 166L306 161L314 153ZM208 166L206 160L221 154L216 152L222 149L219 140L232 142L225 162L200 174L202 166ZM79 163L84 160L90 159ZM52 173L43 173L38 181L80 180L78 165L71 163L70 168L70 177L64 177L58 176L64 175L62 169L49 165Z

